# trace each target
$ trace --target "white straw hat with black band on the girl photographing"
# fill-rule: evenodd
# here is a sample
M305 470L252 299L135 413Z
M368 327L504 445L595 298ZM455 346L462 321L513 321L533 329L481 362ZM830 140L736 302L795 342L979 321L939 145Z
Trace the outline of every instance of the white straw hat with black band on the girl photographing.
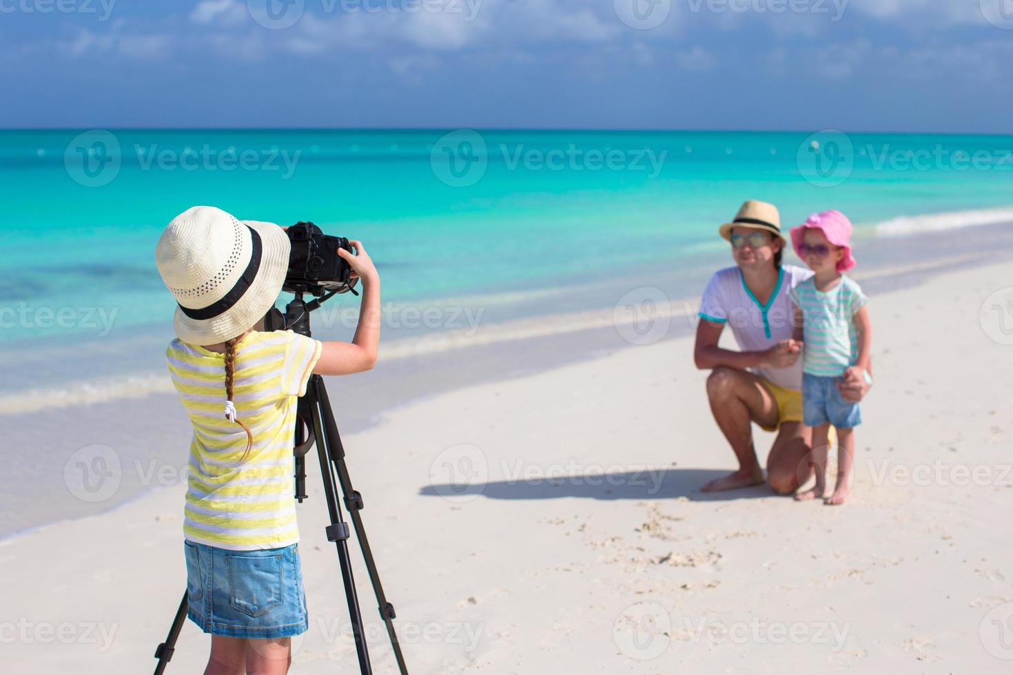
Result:
M179 339L203 346L252 328L278 300L290 250L279 226L238 221L214 206L192 206L172 219L155 264L178 304Z

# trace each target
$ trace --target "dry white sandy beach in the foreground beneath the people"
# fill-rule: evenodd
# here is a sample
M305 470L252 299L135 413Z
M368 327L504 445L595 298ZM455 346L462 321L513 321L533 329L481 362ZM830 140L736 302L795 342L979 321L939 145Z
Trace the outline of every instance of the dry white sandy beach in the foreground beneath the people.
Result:
M349 434L410 672L1010 672L1011 279L1006 263L873 296L876 386L845 507L699 492L733 456L687 338L443 394ZM762 454L771 439L758 432ZM291 672L356 673L311 459L311 627ZM454 470L464 495L446 487ZM0 544L0 672L152 671L184 588L183 490ZM375 672L395 673L353 558ZM187 621L167 672L202 672L209 645Z

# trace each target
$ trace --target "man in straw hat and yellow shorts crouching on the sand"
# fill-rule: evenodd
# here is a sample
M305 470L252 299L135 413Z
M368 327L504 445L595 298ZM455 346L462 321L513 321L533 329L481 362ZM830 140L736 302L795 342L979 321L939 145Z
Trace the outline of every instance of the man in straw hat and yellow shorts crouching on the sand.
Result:
M767 457L767 482L778 494L792 494L812 470L806 457L809 431L802 424L802 343L791 339L789 290L812 272L781 264L785 242L773 204L747 201L718 233L731 243L735 266L716 272L704 290L693 358L698 368L712 370L707 398L738 459L738 471L711 481L703 491L764 482L753 447L751 422L756 422L765 431L777 432ZM742 351L717 346L725 325ZM838 388L852 402L861 401L868 391L857 378Z

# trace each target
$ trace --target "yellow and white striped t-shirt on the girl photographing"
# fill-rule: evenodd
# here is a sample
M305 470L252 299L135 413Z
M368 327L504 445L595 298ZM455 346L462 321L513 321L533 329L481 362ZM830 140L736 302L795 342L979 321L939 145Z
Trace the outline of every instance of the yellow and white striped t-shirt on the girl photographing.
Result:
M306 393L322 344L293 331L253 331L236 345L233 402L225 418L225 354L182 342L165 350L172 384L190 422L183 535L232 551L278 549L299 540L293 442L296 403Z

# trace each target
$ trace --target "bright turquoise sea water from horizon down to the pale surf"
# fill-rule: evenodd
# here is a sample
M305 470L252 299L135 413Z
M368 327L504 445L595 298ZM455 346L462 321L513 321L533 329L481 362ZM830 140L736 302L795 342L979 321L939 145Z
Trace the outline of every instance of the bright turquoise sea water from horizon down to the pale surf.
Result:
M194 204L364 240L386 301L531 292L546 312L539 289L723 255L714 230L745 198L777 203L786 227L839 208L873 236L981 218L964 212L1013 204L1011 185L1013 137L0 132L0 342L167 331L155 242ZM74 319L47 320L61 310ZM114 312L111 327L87 311Z

